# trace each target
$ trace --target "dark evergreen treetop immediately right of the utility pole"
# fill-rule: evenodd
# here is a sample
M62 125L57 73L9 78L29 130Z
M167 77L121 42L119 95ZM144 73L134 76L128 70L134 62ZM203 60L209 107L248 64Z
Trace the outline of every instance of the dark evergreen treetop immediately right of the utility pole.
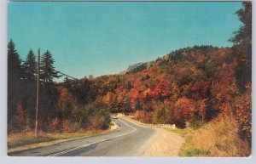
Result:
M51 83L54 78L61 77L58 76L58 72L55 71L54 63L55 60L52 58L52 54L47 50L41 58L40 65L40 77L44 83Z

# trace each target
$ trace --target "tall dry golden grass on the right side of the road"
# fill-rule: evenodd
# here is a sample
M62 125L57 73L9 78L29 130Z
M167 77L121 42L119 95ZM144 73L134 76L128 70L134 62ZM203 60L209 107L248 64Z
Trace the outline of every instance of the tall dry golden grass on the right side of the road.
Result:
M251 154L249 144L239 137L236 120L232 116L218 116L196 129L166 130L184 137L185 143L179 151L179 156L228 157Z

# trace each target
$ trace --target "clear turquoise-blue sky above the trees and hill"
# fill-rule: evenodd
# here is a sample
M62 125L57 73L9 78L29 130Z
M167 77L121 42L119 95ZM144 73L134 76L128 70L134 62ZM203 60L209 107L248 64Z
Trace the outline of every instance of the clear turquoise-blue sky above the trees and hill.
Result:
M78 78L124 71L178 48L230 47L239 2L12 2L8 38L22 59L53 54L55 68Z

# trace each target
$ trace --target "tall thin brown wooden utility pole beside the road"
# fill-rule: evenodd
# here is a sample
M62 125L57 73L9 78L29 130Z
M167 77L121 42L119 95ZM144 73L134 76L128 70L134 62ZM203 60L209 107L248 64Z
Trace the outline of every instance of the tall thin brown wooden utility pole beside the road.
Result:
M38 137L38 103L39 103L39 70L40 70L40 48L38 48L38 85L37 85L37 106L36 106L36 126L35 137Z

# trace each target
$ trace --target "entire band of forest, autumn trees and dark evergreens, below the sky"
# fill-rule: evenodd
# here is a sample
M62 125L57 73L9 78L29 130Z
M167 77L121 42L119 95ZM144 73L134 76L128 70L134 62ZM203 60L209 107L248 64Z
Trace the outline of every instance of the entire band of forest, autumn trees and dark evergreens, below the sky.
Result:
M251 142L252 9L242 3L243 23L232 48L194 46L132 65L116 75L79 80L60 77L52 54L40 62L39 129L75 132L107 129L110 113L122 112L141 122L200 126L219 115L231 115L241 139ZM37 58L30 50L20 59L8 45L8 131L31 131L35 122Z

